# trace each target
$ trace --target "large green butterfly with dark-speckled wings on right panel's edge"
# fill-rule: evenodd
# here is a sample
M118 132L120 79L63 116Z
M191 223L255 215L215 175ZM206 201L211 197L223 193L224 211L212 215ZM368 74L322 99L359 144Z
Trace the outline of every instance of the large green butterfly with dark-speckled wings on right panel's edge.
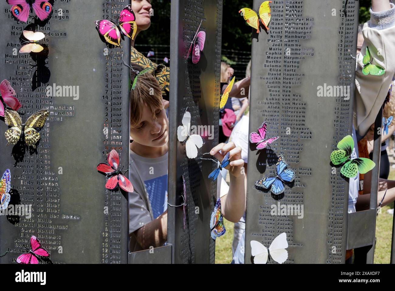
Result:
M337 144L339 150L334 150L331 153L331 162L334 165L343 164L340 173L344 177L355 177L359 171L365 174L374 168L376 164L367 158L355 158L352 160L352 153L354 150L354 140L351 135L347 135Z

